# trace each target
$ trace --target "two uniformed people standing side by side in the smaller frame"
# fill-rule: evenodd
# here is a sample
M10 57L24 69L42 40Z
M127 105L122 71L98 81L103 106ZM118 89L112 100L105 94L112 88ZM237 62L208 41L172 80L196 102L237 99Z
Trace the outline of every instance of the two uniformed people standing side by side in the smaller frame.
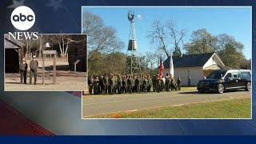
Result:
M19 70L21 74L21 83L26 84L26 73L27 73L27 63L26 59L22 58L22 63L20 64ZM32 77L34 77L34 85L37 84L37 72L38 71L38 61L36 60L35 55L30 61L30 84L32 84Z

